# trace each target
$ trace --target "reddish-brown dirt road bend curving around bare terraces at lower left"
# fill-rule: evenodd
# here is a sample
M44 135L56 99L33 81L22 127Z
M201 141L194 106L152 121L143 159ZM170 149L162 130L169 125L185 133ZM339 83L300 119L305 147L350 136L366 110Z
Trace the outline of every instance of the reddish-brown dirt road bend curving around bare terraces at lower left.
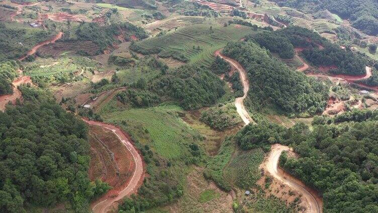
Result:
M101 126L103 128L113 131L114 134L116 134L120 141L123 143L123 145L125 145L125 147L130 151L135 162L135 171L126 188L119 192L115 197L109 197L106 199L103 198L103 200L98 200L97 204L92 207L91 212L93 213L105 213L109 210L109 208L113 205L114 202L117 202L118 200L123 199L125 196L137 192L138 183L143 177L143 161L136 148L131 144L130 140L118 127L113 126L111 124L105 124L96 121L83 121L87 124Z

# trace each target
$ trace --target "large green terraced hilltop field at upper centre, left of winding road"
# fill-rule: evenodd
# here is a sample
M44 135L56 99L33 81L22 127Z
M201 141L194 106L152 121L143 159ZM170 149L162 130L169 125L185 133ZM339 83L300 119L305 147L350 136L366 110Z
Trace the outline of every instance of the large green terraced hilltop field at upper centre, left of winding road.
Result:
M215 60L216 50L224 47L229 41L239 40L253 32L246 26L213 26L211 30L209 25L200 24L137 42L135 46L138 49L137 52L156 53L158 50L161 53L164 51L170 53L173 58L175 55L182 55L190 64L210 66Z

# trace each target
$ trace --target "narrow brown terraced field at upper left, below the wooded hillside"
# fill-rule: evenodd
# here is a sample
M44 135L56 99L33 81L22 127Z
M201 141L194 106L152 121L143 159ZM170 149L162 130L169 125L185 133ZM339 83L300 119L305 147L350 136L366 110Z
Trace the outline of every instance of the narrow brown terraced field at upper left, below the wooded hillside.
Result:
M99 51L99 46L94 44L91 41L80 41L80 42L56 42L44 45L37 50L37 54L48 57L48 56L61 56L62 54L66 55L83 53L90 56L94 56Z

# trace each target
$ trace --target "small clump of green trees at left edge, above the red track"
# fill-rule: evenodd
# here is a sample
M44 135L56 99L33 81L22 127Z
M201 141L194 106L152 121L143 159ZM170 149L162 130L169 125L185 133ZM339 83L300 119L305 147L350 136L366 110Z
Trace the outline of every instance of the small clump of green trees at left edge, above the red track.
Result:
M17 76L19 65L16 61L0 63L0 95L12 94L12 81Z

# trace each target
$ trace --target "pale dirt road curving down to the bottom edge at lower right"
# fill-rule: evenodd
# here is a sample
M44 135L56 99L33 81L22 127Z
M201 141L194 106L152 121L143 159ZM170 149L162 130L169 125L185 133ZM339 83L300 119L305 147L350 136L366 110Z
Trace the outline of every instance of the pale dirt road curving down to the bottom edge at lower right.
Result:
M311 193L311 190L307 189L307 187L303 185L303 183L300 180L297 180L294 177L287 178L285 177L287 176L287 174L283 175L281 174L281 172L278 171L279 156L281 155L282 151L287 150L290 150L288 146L282 146L280 144L272 145L270 154L265 164L267 171L274 178L288 185L289 187L297 190L298 192L300 192L300 194L302 194L303 198L307 199L309 205L307 208L307 212L320 213L321 210L317 199L321 200L321 198L317 194Z

